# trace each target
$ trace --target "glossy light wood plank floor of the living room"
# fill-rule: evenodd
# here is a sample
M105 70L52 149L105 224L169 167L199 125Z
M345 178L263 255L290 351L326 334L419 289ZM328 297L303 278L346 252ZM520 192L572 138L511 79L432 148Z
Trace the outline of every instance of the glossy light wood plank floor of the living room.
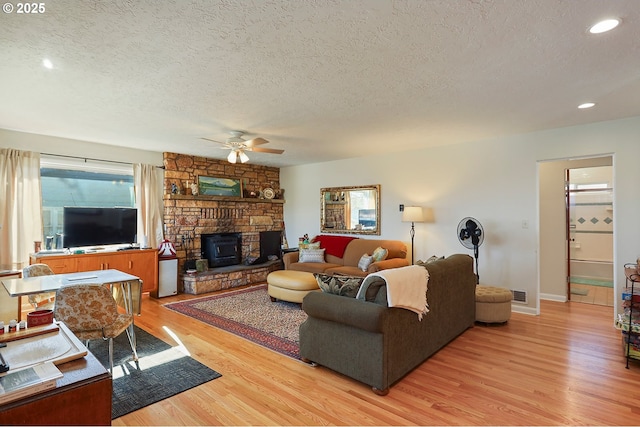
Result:
M168 327L223 376L114 425L640 424L640 364L625 369L610 307L542 301L475 326L381 397L161 306L186 298L145 299L136 324L172 342Z

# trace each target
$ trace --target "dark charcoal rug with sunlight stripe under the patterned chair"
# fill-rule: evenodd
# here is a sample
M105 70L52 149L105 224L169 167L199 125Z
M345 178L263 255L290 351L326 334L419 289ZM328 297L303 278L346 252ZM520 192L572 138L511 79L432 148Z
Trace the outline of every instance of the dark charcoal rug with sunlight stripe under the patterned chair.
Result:
M133 361L126 333L113 340L112 419L221 376L179 346L172 347L137 326L135 331L138 362ZM89 350L109 368L108 341L92 340Z

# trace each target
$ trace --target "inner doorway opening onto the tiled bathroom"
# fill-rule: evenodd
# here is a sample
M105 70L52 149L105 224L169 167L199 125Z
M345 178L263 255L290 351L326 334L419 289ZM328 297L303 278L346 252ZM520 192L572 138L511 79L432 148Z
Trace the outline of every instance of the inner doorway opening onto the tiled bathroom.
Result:
M613 307L613 167L566 169L567 299Z

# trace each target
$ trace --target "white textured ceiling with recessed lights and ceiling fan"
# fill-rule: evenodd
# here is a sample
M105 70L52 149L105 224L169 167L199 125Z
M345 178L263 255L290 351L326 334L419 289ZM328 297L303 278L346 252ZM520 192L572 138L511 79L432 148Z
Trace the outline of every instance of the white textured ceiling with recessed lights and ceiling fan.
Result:
M0 128L212 158L238 129L288 166L640 115L638 0L43 4L0 14Z

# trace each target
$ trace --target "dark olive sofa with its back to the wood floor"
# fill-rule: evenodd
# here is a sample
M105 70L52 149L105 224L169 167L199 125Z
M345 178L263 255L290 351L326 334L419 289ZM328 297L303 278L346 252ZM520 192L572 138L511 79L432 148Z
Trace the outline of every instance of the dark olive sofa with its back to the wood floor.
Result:
M387 307L386 286L369 301L324 292L304 297L300 356L361 381L384 395L389 387L475 321L473 259L456 254L425 266L429 272L422 320Z

